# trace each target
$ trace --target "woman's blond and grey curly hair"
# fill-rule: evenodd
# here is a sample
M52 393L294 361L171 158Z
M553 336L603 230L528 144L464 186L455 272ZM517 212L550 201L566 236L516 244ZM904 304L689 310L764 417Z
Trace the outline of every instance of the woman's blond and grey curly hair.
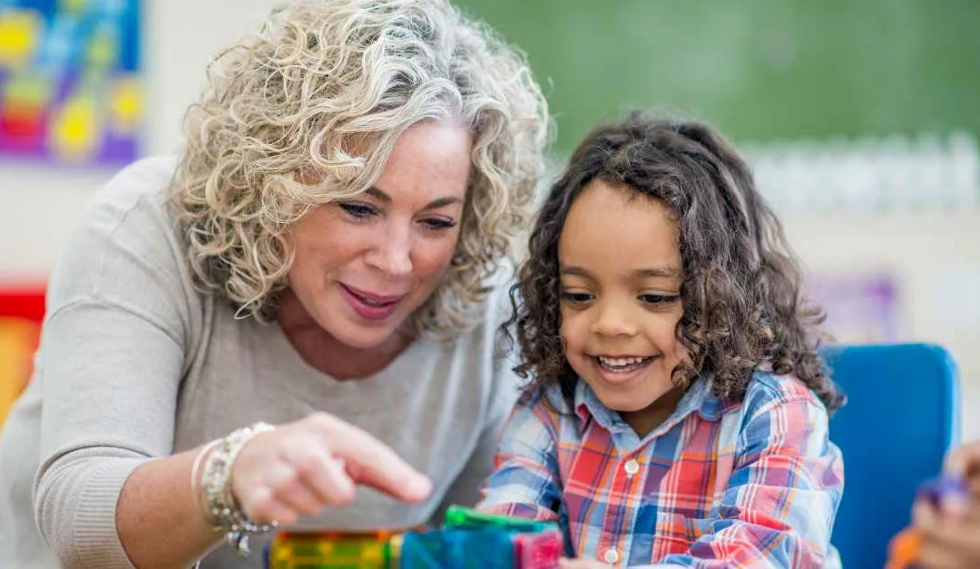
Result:
M474 145L460 240L414 323L451 339L479 321L550 133L521 54L445 0L301 1L221 52L208 79L172 195L198 286L239 316L274 318L290 226L366 190L419 120L462 119Z

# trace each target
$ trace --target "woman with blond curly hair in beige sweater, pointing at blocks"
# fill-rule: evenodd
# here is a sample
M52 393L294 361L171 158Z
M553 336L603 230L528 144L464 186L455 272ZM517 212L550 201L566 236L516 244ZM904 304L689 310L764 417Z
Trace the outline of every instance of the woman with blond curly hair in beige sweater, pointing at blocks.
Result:
M424 523L489 472L548 130L524 63L445 0L319 0L209 76L182 158L119 174L52 275L0 566L258 567L276 522Z

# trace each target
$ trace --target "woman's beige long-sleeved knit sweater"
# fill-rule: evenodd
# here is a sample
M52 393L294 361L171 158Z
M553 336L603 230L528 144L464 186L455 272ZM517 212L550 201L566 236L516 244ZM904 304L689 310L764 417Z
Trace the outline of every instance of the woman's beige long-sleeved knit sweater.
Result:
M0 567L129 567L115 516L136 466L314 410L390 445L435 492L409 505L363 489L306 523L409 526L474 502L518 381L494 357L503 279L485 304L488 323L454 345L418 341L375 376L336 381L277 325L236 320L193 288L163 204L174 166L150 159L123 170L81 215L54 271L35 375L0 435ZM261 567L261 554L242 562L221 546L202 566Z

